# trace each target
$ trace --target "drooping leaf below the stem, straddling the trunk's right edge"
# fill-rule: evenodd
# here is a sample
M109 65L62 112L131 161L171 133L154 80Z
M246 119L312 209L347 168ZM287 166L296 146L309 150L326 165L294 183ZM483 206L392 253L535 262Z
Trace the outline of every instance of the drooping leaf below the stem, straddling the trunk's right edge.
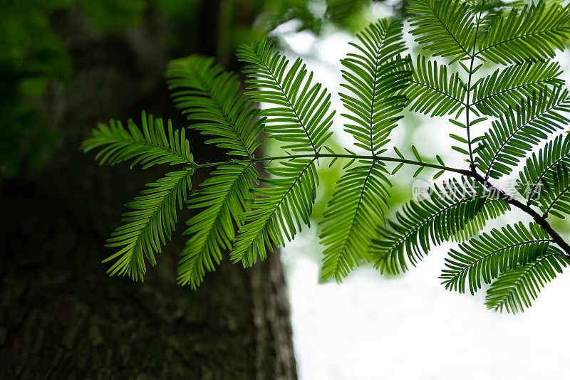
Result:
M314 161L296 159L266 169L272 177L261 180L268 187L255 189L256 199L244 213L231 253L234 263L251 266L258 257L264 260L266 250L283 246L285 238L290 241L303 223L309 224L318 184Z

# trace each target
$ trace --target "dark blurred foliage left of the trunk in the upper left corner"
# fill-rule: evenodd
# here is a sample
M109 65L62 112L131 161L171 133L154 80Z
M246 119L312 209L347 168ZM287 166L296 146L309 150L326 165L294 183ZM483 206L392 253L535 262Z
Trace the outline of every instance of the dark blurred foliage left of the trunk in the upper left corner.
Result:
M38 1L0 2L0 175L40 169L58 138L46 129L38 100L48 80L71 73L63 44L49 28L48 16L66 4Z

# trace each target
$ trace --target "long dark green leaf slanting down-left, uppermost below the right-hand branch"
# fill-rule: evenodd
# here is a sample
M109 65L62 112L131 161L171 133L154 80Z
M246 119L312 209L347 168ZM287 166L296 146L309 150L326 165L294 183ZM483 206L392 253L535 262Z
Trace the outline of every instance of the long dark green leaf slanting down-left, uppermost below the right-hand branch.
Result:
M388 220L373 239L371 255L380 272L400 273L408 270L408 262L416 265L428 253L431 244L460 238L461 231L482 228L485 221L497 218L509 209L498 199L487 198L485 189L470 179L447 181L435 186L428 197L410 201L395 221Z

